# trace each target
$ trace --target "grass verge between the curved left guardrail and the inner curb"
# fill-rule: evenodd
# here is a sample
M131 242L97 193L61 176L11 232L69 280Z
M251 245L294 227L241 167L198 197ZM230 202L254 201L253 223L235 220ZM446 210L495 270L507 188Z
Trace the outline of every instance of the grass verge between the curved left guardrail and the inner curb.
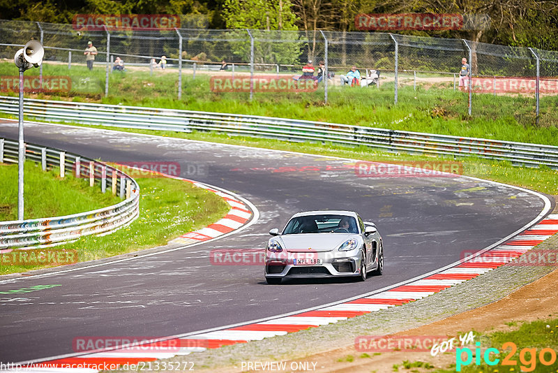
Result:
M126 254L166 244L217 221L229 210L223 198L190 182L164 177L136 181L140 184L140 216L130 226L103 237L82 237L56 249L77 251L80 262ZM48 265L2 265L0 261L0 275L45 267Z

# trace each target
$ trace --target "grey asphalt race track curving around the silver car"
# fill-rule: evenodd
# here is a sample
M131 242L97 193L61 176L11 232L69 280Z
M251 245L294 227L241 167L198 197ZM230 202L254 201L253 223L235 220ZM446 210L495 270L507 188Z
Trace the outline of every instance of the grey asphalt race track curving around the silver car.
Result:
M0 137L17 139L17 122L0 121ZM103 161L180 163L182 177L239 193L260 218L195 247L1 281L0 291L59 285L0 295L2 362L73 353L75 337L175 335L349 298L458 261L462 251L501 240L544 207L534 194L466 177L356 177L344 166L350 161L323 156L57 125L26 124L25 140ZM261 266L209 261L211 249L262 248L267 232L295 212L322 209L355 210L375 221L384 238L383 276L271 286Z

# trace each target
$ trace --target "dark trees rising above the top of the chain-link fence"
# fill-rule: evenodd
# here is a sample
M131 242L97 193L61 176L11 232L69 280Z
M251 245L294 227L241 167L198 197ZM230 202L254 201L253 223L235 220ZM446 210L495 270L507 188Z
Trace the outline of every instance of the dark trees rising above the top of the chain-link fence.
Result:
M558 0L0 0L5 20L71 23L81 13L179 14L211 29L335 31L354 31L359 13L488 15L488 27L474 31L395 32L558 50Z

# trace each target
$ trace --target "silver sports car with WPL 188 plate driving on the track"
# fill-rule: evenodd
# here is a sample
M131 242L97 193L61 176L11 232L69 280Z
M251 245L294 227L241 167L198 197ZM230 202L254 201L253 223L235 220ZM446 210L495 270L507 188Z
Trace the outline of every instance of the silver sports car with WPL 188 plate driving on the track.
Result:
M374 223L351 211L310 211L294 214L282 233L269 231L265 276L268 284L285 277L354 276L370 271L382 275L384 247Z

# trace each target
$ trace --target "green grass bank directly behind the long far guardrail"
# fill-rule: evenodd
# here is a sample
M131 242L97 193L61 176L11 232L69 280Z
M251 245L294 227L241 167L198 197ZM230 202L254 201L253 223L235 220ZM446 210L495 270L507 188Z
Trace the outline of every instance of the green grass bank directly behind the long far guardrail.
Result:
M534 120L533 97L475 94L473 115L467 116L467 94L453 91L452 82L399 88L399 101L393 103L393 82L370 87L329 89L329 102L323 104L324 89L316 92L256 93L252 102L248 93L212 92L210 76L192 71L183 73L182 99L177 99L178 72L130 68L126 73L110 74L109 96L104 96L105 70L96 64L93 71L84 66L45 64L44 75L69 75L70 92L33 94L37 98L93 101L107 104L140 105L211 112L265 115L323 122L356 124L387 129L442 133L453 136L491 138L518 142L558 145L558 96L541 97L541 115ZM26 75L37 75L31 69ZM10 62L0 63L0 75L17 75ZM293 73L286 74L286 76ZM225 75L223 75L225 76ZM15 93L10 93L15 95Z

